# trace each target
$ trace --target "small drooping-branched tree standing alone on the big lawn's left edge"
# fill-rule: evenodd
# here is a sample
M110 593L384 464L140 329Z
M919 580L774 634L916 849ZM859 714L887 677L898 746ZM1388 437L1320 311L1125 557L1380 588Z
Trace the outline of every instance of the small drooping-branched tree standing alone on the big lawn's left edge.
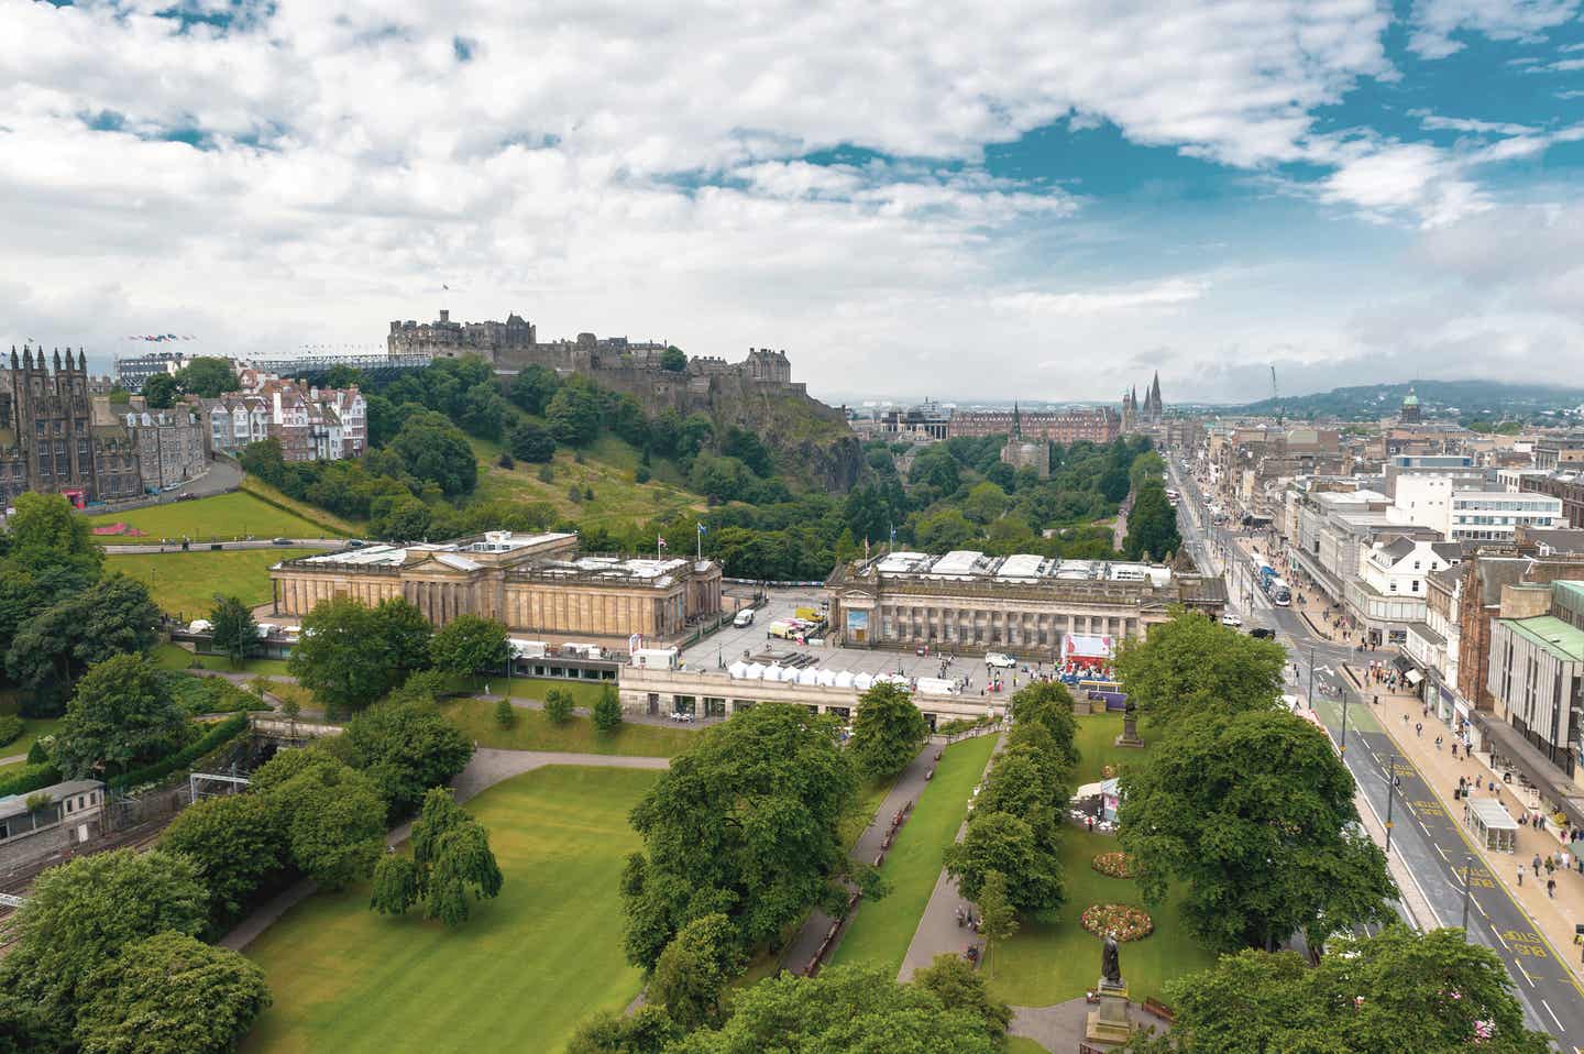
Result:
M437 786L423 796L423 815L412 826L412 859L380 859L369 907L402 915L423 903L425 918L461 926L469 915L467 894L478 900L496 897L501 884L483 824L463 812L447 788Z

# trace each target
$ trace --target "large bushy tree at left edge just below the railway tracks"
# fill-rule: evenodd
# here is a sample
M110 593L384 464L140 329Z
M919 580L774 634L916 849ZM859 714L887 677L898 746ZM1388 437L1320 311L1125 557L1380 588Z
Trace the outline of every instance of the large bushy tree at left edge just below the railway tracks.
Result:
M0 991L70 1032L95 992L95 970L146 937L198 934L206 908L198 869L160 850L95 853L51 867L8 919L14 943L0 959Z

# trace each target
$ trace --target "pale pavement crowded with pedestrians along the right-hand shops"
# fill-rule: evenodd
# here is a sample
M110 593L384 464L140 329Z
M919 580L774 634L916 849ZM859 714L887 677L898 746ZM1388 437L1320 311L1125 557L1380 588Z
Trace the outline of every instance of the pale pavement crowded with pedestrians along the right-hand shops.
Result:
M1359 672L1354 670L1354 674ZM1397 743L1402 756L1424 775L1426 783L1435 791L1437 804L1459 824L1465 835L1468 832L1462 827L1462 802L1453 800L1457 777L1479 780L1479 791L1475 797L1495 797L1514 818L1529 812L1514 796L1514 786L1502 783L1502 777L1491 770L1487 764L1489 754L1476 754L1470 759L1459 748L1457 758L1453 759L1453 731L1435 718L1434 710L1426 716L1418 697L1403 693L1376 693L1375 688L1378 686L1372 683L1364 689L1365 701L1373 694L1380 694L1380 705L1370 707L1375 716L1386 727L1392 742ZM1365 702L1364 705L1370 704ZM1403 716L1408 718L1407 724L1402 720ZM1413 731L1415 724L1424 726L1424 731L1418 735ZM1435 748L1437 735L1445 740L1440 750ZM1489 791L1492 780L1495 780L1497 786L1495 796ZM1559 842L1554 832L1555 827L1549 824L1543 832L1535 831L1532 824L1521 826L1517 829L1517 853L1513 854L1486 851L1475 843L1473 837L1468 837L1468 843L1479 851L1486 867L1506 886L1508 894L1530 918L1535 929L1551 941L1557 956L1576 976L1584 978L1579 954L1573 951L1573 927L1584 922L1584 875L1576 870L1576 865L1570 870L1557 869L1552 875L1557 881L1555 897L1552 899L1546 896L1544 869L1541 869L1538 881L1532 872L1536 854L1546 857L1554 856L1559 850L1567 850L1568 856L1573 856L1573 846ZM1576 843L1576 848L1584 848L1584 843ZM1525 870L1522 886L1517 884L1519 864Z

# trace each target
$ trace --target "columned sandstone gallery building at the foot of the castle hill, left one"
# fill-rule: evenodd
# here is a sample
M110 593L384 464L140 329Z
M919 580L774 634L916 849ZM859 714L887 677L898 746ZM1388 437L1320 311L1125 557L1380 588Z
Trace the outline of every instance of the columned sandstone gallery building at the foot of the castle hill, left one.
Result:
M276 615L301 618L341 598L371 607L402 598L436 626L480 615L556 642L667 642L721 610L714 561L581 555L577 534L558 533L369 545L287 559L269 577Z

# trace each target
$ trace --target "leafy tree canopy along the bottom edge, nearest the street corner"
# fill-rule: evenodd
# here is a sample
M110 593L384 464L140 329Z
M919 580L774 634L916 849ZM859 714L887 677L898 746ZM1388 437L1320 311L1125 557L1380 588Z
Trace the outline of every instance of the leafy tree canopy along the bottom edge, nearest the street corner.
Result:
M1350 1054L1543 1054L1524 1027L1500 956L1459 929L1337 937L1318 967L1291 951L1245 949L1167 981L1169 1037L1139 1037L1133 1054L1348 1051Z

